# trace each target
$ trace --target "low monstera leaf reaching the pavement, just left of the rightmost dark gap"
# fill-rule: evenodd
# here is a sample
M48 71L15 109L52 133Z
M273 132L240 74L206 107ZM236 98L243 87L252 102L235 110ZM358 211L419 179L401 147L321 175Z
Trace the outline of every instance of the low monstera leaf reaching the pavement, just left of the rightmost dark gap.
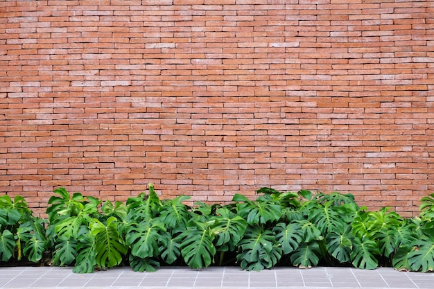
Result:
M380 250L373 240L367 237L363 238L363 240L354 238L353 246L351 259L354 267L360 269L375 269L378 267L375 255L379 255Z

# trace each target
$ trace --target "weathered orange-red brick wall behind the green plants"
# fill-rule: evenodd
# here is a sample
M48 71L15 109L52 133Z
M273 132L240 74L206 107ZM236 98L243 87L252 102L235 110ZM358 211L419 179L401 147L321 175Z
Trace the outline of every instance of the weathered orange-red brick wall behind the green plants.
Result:
M434 2L0 2L0 192L434 191Z

